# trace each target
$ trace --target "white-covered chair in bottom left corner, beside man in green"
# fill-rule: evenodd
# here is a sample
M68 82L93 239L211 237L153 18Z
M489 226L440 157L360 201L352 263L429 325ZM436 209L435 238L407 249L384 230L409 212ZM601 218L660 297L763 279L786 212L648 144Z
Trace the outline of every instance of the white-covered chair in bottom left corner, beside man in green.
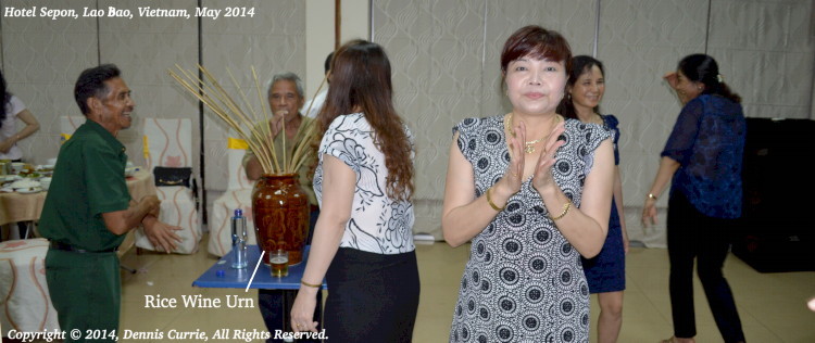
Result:
M42 332L60 330L46 281L48 240L28 239L0 243L0 327Z

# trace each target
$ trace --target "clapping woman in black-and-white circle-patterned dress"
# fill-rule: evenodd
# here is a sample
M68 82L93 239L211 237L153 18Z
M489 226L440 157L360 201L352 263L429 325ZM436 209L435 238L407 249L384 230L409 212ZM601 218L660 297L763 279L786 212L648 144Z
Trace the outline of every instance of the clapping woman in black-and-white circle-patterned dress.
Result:
M518 29L501 53L512 112L453 129L442 230L472 252L451 342L588 342L579 255L605 240L614 153L607 129L555 113L570 59L560 34Z

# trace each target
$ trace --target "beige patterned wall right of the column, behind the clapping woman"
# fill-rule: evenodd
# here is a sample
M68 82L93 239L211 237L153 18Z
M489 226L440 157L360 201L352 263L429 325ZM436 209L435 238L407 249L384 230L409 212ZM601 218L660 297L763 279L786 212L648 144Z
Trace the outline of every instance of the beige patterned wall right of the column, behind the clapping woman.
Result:
M680 110L661 79L679 59L706 47L744 98L747 116L812 116L812 0L374 1L374 40L390 53L398 109L418 132L417 231L440 238L450 128L468 116L510 111L499 89L506 37L539 24L561 31L575 54L591 55L598 2L597 55L606 68L601 109L622 125L620 173L632 240L665 246L667 192L655 229L643 229L639 215Z

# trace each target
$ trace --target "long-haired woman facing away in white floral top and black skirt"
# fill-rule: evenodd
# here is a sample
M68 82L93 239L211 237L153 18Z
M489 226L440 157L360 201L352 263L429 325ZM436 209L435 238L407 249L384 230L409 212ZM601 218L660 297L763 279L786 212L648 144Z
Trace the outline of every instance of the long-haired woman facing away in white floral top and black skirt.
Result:
M393 109L390 62L376 43L335 53L317 120L321 203L291 327L316 332L315 294L328 282L331 342L410 342L418 309L413 245L413 136Z

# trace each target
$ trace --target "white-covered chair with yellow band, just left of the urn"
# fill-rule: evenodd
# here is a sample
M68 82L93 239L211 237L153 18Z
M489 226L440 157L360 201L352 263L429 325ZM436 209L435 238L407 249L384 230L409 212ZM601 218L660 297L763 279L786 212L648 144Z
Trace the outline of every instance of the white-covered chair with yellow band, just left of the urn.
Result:
M235 209L243 209L243 216L247 217L247 228L249 237L247 244L256 244L254 238L254 220L252 220L252 187L254 182L247 178L243 170L243 154L246 154L247 143L240 139L229 138L227 144L227 186L226 192L212 203L210 212L210 242L208 250L210 254L224 256L231 250L231 220Z

